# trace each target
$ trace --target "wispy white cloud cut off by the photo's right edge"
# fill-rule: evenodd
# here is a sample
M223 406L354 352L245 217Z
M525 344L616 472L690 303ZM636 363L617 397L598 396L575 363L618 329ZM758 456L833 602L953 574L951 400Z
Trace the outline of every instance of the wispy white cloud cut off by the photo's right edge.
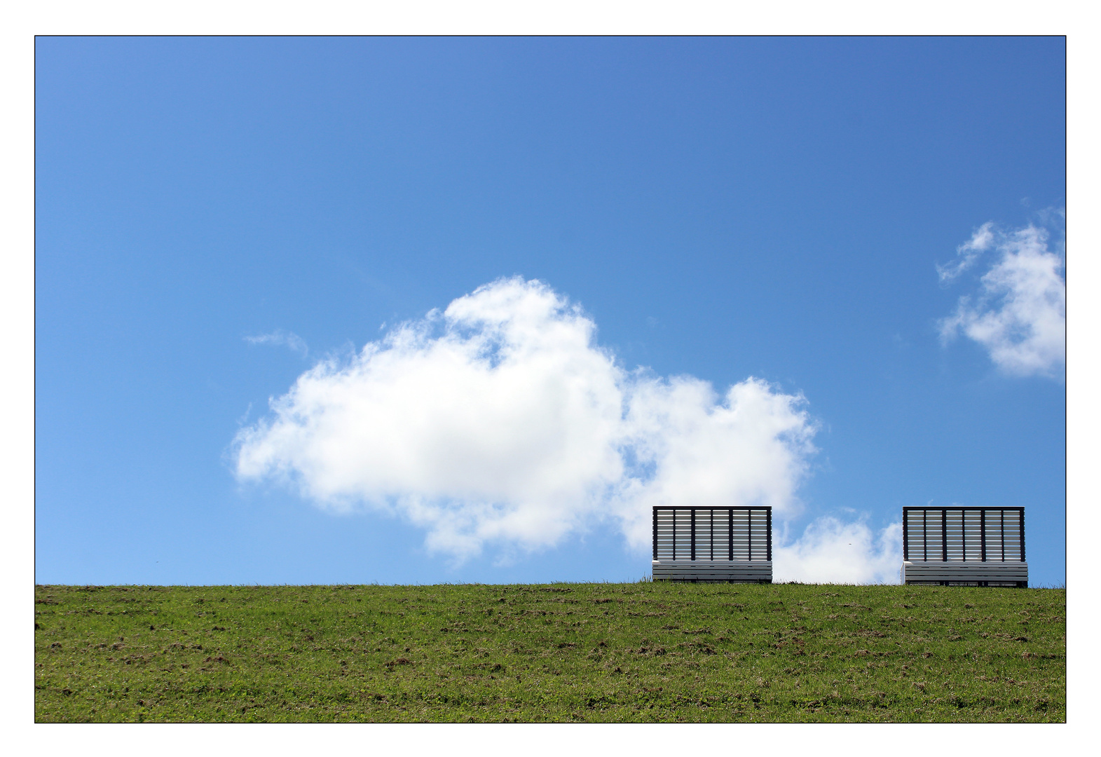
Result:
M1061 249L1048 250L1044 228L1029 225L1004 232L985 224L971 242L961 246L967 250L955 272L946 277L948 269L938 267L941 280L970 266L967 261L973 257L968 256L980 247L995 247L1000 258L982 275L978 295L961 296L956 313L940 321L941 338L948 342L962 333L985 347L1006 374L1057 375L1066 364Z

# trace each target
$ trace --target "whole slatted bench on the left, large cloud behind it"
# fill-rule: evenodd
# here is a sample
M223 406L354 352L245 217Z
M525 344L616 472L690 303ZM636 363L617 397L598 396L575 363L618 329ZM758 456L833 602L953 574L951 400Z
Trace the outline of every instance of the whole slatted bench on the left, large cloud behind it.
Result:
M655 507L654 581L772 583L771 507Z

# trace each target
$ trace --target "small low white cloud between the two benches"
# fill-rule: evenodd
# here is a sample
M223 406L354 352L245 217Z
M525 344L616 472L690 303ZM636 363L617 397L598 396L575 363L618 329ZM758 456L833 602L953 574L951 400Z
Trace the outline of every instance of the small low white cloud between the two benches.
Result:
M877 534L863 521L844 523L818 518L796 541L773 538L773 581L803 583L898 583L902 567L902 523Z

